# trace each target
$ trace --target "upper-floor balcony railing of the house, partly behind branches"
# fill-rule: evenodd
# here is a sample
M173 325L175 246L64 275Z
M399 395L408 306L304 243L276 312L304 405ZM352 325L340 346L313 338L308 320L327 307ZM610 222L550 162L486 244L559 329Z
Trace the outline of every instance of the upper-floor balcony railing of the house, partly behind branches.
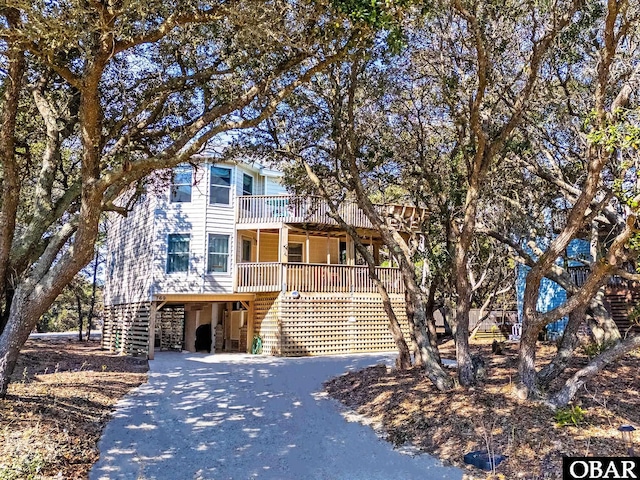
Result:
M383 216L403 221L414 228L422 220L424 209L402 205L376 205ZM292 195L249 195L238 197L238 224L317 223L336 225L329 216L329 205L319 197ZM344 202L339 207L344 221L358 228L373 228L371 222L356 203Z

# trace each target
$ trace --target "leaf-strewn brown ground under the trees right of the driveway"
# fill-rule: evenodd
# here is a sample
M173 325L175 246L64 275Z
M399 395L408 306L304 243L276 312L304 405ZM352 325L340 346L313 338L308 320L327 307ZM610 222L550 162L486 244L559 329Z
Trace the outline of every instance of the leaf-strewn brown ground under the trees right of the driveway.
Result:
M584 418L578 425L559 426L551 409L512 396L515 345L507 345L500 356L492 355L489 345L473 348L484 355L489 376L469 391L441 393L419 369L401 372L382 365L332 379L325 388L376 422L388 441L410 442L445 464L467 469L472 478L560 479L563 456L626 455L617 429L640 425L640 354L627 355L580 390L572 405L584 411ZM455 357L450 343L442 352L443 358ZM540 353L540 362L548 361L555 347L544 346ZM586 361L579 356L567 374ZM463 462L465 453L487 448L507 456L495 475Z

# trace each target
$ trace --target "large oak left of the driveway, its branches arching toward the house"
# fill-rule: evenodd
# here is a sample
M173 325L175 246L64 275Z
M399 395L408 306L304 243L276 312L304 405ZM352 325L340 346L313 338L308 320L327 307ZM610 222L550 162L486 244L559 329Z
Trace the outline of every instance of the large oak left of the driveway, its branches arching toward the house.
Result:
M362 35L315 1L3 2L0 397L93 257L102 213L126 214L117 199L151 172L257 125Z

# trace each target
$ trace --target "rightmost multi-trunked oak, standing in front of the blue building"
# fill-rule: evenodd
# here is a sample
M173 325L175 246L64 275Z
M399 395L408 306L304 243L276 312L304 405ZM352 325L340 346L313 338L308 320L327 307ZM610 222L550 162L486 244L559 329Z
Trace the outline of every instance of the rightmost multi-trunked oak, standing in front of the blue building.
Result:
M638 13L637 6L625 1L596 3L590 11L585 9L588 22L582 32L573 34L591 39L591 44L575 42L568 53L558 52L557 63L552 65L555 68L550 69L555 73L547 79L548 88L541 97L546 108L537 112L540 116L526 132L537 148L521 159L521 165L553 186L557 198L562 199L566 220L546 248L533 251L535 260L524 294L520 395L539 398L540 387L563 370L588 310L592 311L594 330L603 335L602 354L557 392L547 394L555 406L565 405L591 376L640 344L634 336L620 341L610 319L599 313L602 286L613 274L628 277L621 267L625 262L633 264L638 255L638 120L632 103L639 83L633 61L638 55ZM561 46L567 48L566 44ZM550 122L545 121L549 118ZM608 232L604 241L600 239L602 230ZM584 231L590 231L592 243L590 273L584 285L563 285L558 278L569 293L567 301L550 312L538 312L542 277L562 274L557 259ZM563 316L569 317L569 323L558 355L538 372L534 366L538 332Z

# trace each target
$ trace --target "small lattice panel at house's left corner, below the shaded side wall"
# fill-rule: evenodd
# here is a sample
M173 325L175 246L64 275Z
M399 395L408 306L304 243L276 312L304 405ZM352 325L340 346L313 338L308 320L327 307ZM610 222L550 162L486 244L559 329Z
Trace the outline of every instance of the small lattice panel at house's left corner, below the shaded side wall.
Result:
M149 342L149 312L149 303L107 307L102 328L102 348L126 355L146 355Z

